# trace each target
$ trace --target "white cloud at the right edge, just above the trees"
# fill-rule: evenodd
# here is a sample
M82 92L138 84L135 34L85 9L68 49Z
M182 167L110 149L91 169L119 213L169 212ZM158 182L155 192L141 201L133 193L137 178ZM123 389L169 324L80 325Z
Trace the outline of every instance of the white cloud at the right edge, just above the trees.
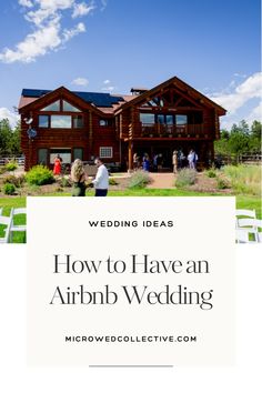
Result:
M222 92L209 94L209 98L226 109L228 113L221 118L221 125L230 129L242 119L249 124L261 120L261 92L262 72L255 72L241 83L230 82Z

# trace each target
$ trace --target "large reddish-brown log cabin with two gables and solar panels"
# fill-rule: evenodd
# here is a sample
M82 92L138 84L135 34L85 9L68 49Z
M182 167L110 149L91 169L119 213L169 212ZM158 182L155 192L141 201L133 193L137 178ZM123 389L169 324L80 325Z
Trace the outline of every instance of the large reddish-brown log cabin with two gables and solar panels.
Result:
M59 153L63 163L101 157L109 165L131 170L133 154L162 154L172 168L173 150L194 149L199 168L214 158L220 138L219 118L225 110L174 77L130 95L23 89L19 103L21 148L26 170L42 163L52 168Z

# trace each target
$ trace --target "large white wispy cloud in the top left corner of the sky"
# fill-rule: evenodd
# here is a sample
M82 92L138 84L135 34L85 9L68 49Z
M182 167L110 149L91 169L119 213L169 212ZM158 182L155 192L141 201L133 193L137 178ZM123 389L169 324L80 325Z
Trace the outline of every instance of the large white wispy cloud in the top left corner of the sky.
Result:
M40 56L63 48L67 41L85 31L82 22L63 27L64 12L71 11L71 17L75 19L94 9L93 0L90 4L78 3L75 0L19 0L19 4L30 8L24 19L32 24L33 32L18 42L14 49L4 48L0 52L0 61L6 63L29 63Z

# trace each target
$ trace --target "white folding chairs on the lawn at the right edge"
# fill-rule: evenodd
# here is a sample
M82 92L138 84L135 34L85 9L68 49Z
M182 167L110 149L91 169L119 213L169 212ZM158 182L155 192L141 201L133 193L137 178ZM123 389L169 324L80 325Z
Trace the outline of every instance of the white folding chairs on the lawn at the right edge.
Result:
M262 220L256 219L255 210L236 209L236 243L261 243Z

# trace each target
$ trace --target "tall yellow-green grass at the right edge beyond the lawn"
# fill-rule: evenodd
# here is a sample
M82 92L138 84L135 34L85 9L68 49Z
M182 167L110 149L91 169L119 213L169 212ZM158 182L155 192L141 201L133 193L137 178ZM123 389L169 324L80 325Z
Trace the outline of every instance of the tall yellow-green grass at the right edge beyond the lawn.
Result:
M261 195L261 165L225 165L222 171L235 193Z

